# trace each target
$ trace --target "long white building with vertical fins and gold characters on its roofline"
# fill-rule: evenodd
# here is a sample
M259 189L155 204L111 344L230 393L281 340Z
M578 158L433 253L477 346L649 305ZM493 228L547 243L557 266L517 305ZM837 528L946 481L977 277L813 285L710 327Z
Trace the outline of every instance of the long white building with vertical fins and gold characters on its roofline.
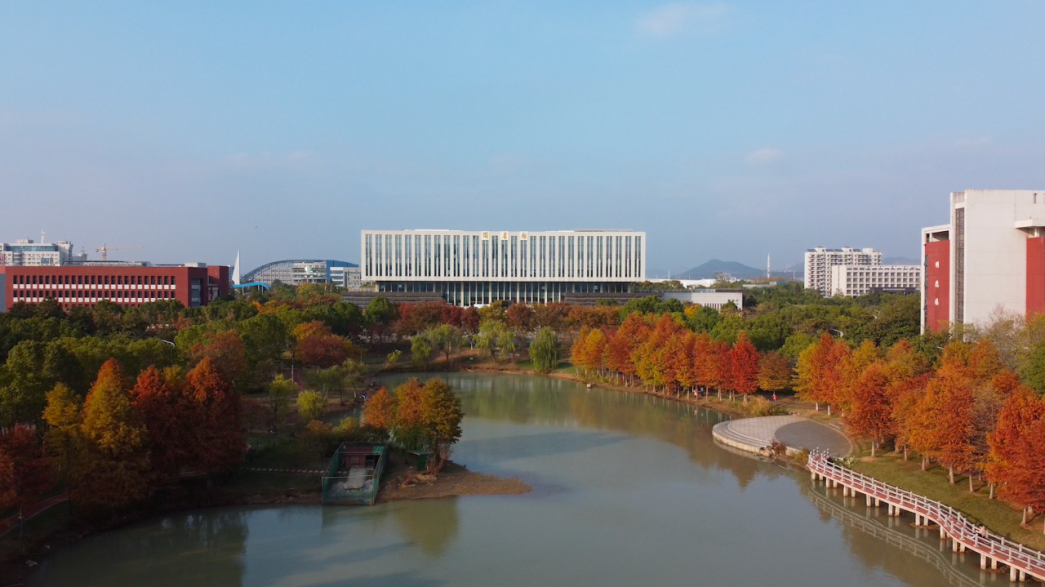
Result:
M646 280L646 233L634 231L365 230L361 251L361 279L378 291L439 292L461 306L626 292Z

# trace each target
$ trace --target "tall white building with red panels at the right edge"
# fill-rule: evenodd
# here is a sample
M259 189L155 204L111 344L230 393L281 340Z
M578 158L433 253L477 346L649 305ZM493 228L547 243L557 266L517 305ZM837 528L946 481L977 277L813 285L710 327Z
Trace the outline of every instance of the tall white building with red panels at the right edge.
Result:
M951 193L950 222L922 229L922 331L1045 311L1045 190Z

